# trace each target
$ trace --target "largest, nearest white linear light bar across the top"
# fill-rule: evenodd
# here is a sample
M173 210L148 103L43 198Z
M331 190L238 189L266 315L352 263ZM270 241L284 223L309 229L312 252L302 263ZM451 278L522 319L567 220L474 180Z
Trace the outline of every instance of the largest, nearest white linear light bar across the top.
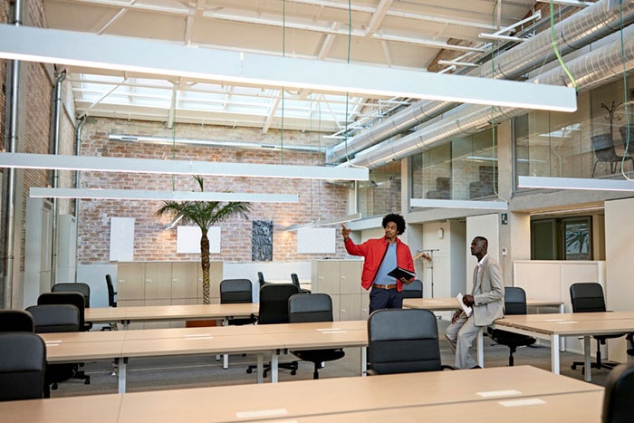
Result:
M9 24L0 24L0 57L361 96L385 95L550 111L577 109L574 89L562 86L196 49L128 37Z

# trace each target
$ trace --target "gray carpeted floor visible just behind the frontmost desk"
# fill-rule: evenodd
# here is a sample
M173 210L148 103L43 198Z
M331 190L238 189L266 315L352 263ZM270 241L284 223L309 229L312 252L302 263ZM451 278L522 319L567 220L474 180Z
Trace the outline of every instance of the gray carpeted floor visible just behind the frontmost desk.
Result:
M438 329L441 333L440 350L443 364L453 365L454 357L442 336L447 322L439 321ZM360 349L346 349L346 356L339 361L330 361L320 370L321 378L341 378L359 376ZM474 349L473 353L476 351ZM551 350L546 346L520 348L514 354L515 365L531 364L535 367L550 370ZM280 362L291 361L293 356L281 357ZM581 370L572 370L572 361L582 361L583 357L569 352L561 353L562 375L577 380L583 380ZM216 356L169 356L152 359L131 359L128 364L128 392L155 389L182 389L207 386L236 385L256 383L255 372L246 373L249 364L256 362L254 354L231 355L229 369L222 368L222 361ZM485 367L499 367L508 365L508 348L495 345L490 338L485 337ZM288 370L280 370L280 381L312 379L312 363L300 361L296 375ZM117 392L117 377L112 373L110 361L86 362L82 370L91 375L91 384L84 385L82 380L67 380L53 390L52 398L69 397L75 395L95 395ZM604 386L610 370L592 369L592 383ZM270 380L270 376L269 376Z

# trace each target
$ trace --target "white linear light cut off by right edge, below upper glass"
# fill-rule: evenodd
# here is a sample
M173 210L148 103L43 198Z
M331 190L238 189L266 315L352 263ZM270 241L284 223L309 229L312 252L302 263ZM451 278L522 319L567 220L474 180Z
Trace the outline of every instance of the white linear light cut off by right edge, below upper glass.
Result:
M519 177L517 187L585 189L589 191L634 191L634 181L592 178Z

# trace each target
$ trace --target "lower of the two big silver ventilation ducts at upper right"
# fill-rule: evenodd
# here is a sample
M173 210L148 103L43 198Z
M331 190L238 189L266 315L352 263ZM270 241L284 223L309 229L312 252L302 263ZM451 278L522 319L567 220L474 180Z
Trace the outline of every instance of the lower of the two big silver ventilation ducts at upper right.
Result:
M634 68L634 25L623 30L625 69L626 72ZM607 43L603 47L588 53L572 62L567 63L570 72L575 75L579 91L589 91L601 84L622 77L623 56L620 43ZM567 78L561 67L534 77L528 83L545 83L562 85L572 82ZM459 135L474 133L491 125L520 116L529 112L526 109L514 109L510 107L495 107L493 113L491 107L465 104L449 111L443 120L428 124L426 127L400 139L383 142L379 146L368 149L354 159L351 164L367 168L377 168L393 160L406 159L431 147L435 147L443 141L447 142Z

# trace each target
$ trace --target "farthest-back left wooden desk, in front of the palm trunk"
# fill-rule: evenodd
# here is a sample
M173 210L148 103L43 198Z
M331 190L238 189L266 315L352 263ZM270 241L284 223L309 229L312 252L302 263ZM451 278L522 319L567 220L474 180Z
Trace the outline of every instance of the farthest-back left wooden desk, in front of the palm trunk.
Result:
M260 310L258 303L148 305L137 307L87 308L86 322L120 322L128 329L130 322L166 322L184 320L229 319L248 317Z

